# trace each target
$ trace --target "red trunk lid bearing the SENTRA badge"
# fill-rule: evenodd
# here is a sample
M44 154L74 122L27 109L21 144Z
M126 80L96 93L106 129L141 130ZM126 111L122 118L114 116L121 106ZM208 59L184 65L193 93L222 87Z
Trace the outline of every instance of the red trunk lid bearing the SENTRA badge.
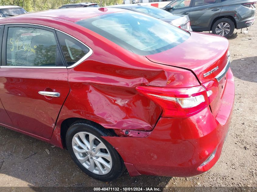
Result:
M227 64L227 39L191 32L189 39L164 52L146 56L150 61L192 71L200 83L215 79Z

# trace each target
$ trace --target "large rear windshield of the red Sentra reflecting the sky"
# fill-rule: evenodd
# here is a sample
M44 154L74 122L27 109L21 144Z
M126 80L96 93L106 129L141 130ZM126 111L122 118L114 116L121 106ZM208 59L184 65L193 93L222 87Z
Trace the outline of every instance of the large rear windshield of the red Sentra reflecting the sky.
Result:
M138 55L171 49L189 38L190 33L137 12L116 12L76 22Z

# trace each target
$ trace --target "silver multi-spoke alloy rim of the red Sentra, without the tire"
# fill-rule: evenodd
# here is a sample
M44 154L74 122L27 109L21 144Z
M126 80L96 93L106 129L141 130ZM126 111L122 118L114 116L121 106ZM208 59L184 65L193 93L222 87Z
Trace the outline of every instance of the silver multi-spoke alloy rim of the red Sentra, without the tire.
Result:
M112 169L112 157L106 145L88 132L73 136L72 149L78 161L89 171L105 175Z

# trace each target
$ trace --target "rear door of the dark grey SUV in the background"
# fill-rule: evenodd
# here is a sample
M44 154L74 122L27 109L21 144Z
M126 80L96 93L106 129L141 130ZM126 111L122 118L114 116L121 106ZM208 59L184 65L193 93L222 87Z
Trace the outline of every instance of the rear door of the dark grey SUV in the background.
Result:
M222 6L220 0L193 0L189 16L193 31L210 31L211 22L218 17Z

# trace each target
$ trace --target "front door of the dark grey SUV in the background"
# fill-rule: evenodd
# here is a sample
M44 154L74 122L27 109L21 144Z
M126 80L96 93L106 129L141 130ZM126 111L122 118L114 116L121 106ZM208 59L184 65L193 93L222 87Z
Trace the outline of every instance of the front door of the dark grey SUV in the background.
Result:
M173 7L169 12L173 14L190 15L191 5L193 0L176 0L169 4Z

